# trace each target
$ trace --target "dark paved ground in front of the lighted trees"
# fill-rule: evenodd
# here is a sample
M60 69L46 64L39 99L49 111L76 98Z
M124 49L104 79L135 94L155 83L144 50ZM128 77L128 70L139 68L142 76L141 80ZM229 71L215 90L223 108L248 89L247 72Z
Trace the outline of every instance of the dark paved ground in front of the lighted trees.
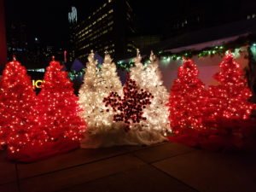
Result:
M0 153L0 192L255 192L256 154L175 143L78 149L31 164Z

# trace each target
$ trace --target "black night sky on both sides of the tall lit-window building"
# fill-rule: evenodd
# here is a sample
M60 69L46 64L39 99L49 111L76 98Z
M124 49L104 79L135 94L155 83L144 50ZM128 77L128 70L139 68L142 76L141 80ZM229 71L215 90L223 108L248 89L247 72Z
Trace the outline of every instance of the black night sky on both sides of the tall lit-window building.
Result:
M130 0L131 7L134 9L138 32L148 34L165 30L165 26L170 20L170 13L183 14L186 6L191 6L191 3L207 2L207 6L214 10L226 6L227 4L224 4L224 2L229 3L230 1L216 0L209 3L201 0L174 2L166 0ZM102 2L106 2L106 0L5 0L6 20L8 25L10 21L15 20L24 22L27 26L28 41L37 37L41 43L65 47L68 42L67 13L71 6L74 5L78 8L78 17L84 17L90 15Z

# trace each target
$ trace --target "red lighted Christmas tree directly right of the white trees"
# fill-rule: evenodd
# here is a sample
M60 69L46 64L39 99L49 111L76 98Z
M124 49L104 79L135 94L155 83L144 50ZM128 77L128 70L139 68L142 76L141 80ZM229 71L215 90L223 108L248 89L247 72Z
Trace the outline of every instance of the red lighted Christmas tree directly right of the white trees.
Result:
M202 108L206 102L205 85L198 79L198 69L191 60L184 60L172 84L169 119L174 133L185 128L204 128Z

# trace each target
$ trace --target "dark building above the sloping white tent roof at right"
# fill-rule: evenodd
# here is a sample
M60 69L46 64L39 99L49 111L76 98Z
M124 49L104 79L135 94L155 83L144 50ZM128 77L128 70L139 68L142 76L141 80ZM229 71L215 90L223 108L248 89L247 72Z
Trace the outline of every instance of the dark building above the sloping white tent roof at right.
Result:
M193 1L180 0L166 17L164 38L189 33L239 20L256 19L253 0Z

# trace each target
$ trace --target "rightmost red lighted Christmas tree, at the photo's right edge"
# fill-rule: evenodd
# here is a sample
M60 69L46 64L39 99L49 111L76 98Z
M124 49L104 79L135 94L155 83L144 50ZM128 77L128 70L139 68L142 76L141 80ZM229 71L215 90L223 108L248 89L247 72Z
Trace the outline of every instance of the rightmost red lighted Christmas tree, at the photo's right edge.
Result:
M220 72L214 75L219 84L209 87L207 120L218 124L225 119L248 119L253 109L253 103L248 102L252 94L239 64L228 53L219 67Z

